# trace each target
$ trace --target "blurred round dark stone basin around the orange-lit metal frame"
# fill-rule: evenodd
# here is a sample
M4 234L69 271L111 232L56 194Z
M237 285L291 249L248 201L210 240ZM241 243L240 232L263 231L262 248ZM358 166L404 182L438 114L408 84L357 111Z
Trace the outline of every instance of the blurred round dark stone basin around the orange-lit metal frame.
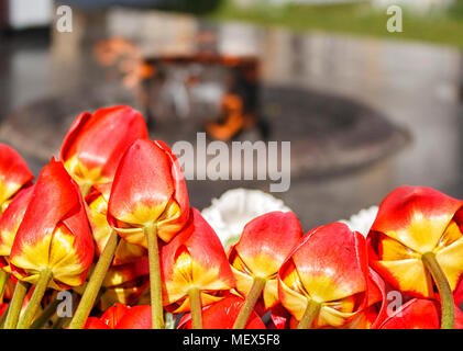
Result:
M0 124L0 141L16 148L38 172L52 155L58 155L67 129L80 112L113 104L136 102L131 93L101 87L49 97L7 116ZM290 141L293 179L365 167L397 151L409 139L406 131L368 106L307 89L264 86L261 105L267 140ZM203 132L203 121L173 118L154 124L150 132L152 138L170 146L177 140L195 146L197 132ZM254 127L235 140L261 138Z

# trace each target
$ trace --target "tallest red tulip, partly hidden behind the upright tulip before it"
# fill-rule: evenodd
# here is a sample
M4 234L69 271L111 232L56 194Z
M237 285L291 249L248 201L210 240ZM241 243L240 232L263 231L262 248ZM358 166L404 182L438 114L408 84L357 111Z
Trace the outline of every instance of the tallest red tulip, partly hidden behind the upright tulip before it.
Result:
M81 113L66 135L60 159L86 194L91 185L111 182L125 150L147 138L143 116L130 106Z

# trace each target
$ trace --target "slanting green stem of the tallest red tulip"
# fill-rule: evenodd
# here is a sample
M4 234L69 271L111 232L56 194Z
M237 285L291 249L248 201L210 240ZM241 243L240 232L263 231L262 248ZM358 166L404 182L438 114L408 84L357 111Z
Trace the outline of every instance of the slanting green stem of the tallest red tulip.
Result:
M84 292L84 295L80 299L79 306L77 307L76 314L69 325L69 329L82 329L88 315L93 308L95 302L98 296L98 292L101 288L106 273L108 272L109 267L111 265L112 258L114 257L115 248L118 247L119 235L112 230L108 239L108 242L104 246L103 251L101 252L100 258L98 259L97 265L95 267L91 278L87 284L87 287Z

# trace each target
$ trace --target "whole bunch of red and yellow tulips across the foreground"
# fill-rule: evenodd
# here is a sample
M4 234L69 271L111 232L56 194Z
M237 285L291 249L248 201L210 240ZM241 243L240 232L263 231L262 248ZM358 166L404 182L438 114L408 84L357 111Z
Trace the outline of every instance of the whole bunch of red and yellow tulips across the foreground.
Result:
M463 326L463 201L400 186L366 239L271 212L225 252L129 106L80 114L35 182L0 145L0 214L4 329ZM76 302L65 322L62 291Z

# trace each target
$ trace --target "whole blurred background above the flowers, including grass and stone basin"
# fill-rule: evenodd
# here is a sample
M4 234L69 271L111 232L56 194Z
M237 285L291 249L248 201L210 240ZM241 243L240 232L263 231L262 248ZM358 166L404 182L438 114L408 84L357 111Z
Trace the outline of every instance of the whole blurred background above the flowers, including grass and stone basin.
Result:
M401 184L463 197L462 47L462 0L0 0L0 141L37 174L80 112L113 104L170 146L291 141L274 195L308 230ZM202 208L271 182L188 186Z

